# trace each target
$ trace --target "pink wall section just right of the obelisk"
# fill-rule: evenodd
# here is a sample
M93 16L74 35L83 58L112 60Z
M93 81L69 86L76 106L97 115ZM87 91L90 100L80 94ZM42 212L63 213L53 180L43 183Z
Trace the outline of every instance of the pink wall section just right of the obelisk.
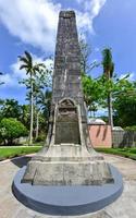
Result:
M88 124L90 141L94 147L112 147L111 126Z

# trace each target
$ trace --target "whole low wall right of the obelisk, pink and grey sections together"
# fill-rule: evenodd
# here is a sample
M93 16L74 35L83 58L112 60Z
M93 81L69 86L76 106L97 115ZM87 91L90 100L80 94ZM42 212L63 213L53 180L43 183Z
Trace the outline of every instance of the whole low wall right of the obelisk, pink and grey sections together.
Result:
M94 147L136 147L136 131L113 130L110 125L88 124Z

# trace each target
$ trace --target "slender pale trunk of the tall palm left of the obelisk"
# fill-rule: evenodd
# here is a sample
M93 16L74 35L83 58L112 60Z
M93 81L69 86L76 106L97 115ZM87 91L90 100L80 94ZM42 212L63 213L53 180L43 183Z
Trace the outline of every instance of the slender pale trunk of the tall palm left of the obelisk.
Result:
M34 97L33 97L33 80L30 76L30 130L29 130L29 145L33 143L33 123L34 123Z

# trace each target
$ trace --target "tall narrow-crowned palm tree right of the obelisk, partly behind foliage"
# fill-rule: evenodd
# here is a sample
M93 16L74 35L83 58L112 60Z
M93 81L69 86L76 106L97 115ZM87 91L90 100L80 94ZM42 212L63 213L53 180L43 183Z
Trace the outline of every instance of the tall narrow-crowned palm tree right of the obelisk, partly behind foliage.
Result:
M111 80L114 72L114 63L112 61L112 51L110 48L106 48L102 50L102 65L103 65L103 74L107 80ZM112 93L108 92L108 117L109 124L111 129L113 129L113 114L112 114Z

